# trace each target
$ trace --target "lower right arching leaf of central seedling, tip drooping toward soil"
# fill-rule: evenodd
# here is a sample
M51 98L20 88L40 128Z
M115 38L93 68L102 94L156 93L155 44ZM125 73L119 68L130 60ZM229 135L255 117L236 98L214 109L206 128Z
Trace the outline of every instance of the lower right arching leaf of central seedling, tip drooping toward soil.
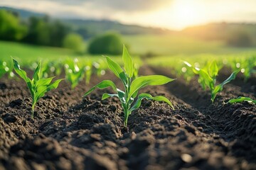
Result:
M169 99L164 96L153 97L150 94L139 94L137 101L134 103L134 106L132 106L130 111L134 111L134 110L138 109L139 106L141 106L141 104L142 104L143 98L146 98L148 100L154 100L154 101L164 101L164 102L168 103L169 106L171 106L171 108L174 110L174 106L171 104L171 101L169 101Z

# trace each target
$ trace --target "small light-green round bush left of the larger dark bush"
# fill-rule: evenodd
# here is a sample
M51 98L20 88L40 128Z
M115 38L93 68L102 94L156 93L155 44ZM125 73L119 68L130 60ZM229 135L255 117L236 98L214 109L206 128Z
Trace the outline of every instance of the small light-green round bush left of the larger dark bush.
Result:
M85 44L82 37L76 33L69 33L63 40L63 47L82 53L85 50Z

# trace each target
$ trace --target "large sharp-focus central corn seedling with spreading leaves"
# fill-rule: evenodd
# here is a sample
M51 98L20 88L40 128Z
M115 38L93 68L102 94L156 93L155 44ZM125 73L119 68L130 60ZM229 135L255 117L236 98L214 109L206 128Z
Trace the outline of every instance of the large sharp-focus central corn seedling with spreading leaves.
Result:
M170 79L169 77L164 77L161 75L152 75L152 76L142 76L132 79L134 77L134 63L132 61L132 57L130 57L129 53L127 52L126 47L124 46L122 60L124 62L124 69L119 66L116 62L110 59L110 57L106 57L107 65L110 70L114 73L116 77L121 79L122 84L124 85L124 91L117 89L116 85L113 81L110 80L103 80L96 86L92 87L85 96L90 94L96 88L105 89L107 87L112 87L116 94L103 94L102 100L109 98L109 97L117 97L119 101L122 103L122 108L124 110L124 126L127 127L127 121L129 115L132 111L136 110L141 106L142 99L151 99L155 101L164 101L168 103L171 108L174 109L172 106L171 101L164 96L151 96L150 94L139 94L139 90L144 88L145 86L156 86L166 84L170 81L174 81L174 79ZM137 95L139 96L137 97ZM137 97L137 100L135 98Z

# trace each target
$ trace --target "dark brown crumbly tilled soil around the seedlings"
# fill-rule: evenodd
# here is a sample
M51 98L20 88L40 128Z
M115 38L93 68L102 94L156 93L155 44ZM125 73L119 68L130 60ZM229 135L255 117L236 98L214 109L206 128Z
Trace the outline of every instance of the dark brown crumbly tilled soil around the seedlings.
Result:
M141 74L169 74L142 68ZM220 80L230 74L223 69ZM110 90L82 98L112 74L94 77L74 91L62 82L36 106L23 81L0 81L0 169L256 169L255 104L224 104L230 98L255 98L256 78L227 84L215 103L196 79L177 79L144 89L174 104L143 101L124 128L117 98L101 101ZM249 89L248 89L249 88Z

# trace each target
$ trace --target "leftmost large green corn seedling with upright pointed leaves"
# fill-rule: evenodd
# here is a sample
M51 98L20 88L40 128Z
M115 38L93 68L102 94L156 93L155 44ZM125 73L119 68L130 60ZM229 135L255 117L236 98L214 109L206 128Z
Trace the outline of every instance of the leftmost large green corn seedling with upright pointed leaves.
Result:
M56 89L58 87L58 84L60 81L63 79L58 79L51 83L54 77L50 77L48 79L43 79L41 78L41 62L38 63L34 73L33 73L33 79L29 79L27 77L27 74L24 70L21 69L20 65L16 60L14 60L14 70L15 72L24 80L26 81L26 84L28 86L28 89L31 93L32 96L32 113L31 113L31 118L33 119L33 113L34 113L34 108L36 106L36 103L38 100L43 97L46 92Z

